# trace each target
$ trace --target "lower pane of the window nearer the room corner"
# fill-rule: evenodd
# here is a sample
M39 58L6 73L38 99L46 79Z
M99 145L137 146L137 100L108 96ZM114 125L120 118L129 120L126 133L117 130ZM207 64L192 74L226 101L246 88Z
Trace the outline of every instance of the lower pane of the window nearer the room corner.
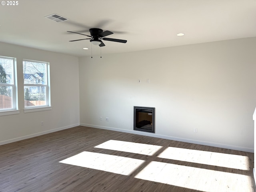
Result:
M25 107L46 105L46 86L24 86Z

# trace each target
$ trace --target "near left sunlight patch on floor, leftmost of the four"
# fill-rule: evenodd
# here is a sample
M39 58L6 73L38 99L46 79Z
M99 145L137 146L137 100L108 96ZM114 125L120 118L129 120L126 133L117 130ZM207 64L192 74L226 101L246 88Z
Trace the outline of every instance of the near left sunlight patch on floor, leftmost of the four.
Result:
M60 161L60 163L92 168L122 175L130 175L143 162L144 160L87 151L81 152L77 155Z

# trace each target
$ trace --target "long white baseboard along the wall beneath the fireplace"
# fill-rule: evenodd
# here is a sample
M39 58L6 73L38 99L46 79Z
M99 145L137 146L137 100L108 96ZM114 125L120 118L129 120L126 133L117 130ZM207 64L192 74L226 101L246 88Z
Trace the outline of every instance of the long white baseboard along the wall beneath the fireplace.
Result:
M193 144L199 144L199 145L206 145L206 146L219 147L219 148L254 153L253 148L245 148L245 147L226 145L226 144L221 144L221 143L205 142L205 141L200 141L200 140L178 138L178 137L160 135L160 134L155 134L155 133L141 132L141 131L135 131L135 130L124 130L124 129L118 129L118 128L105 127L105 126L83 124L83 123L80 123L80 126L106 129L106 130L112 130L112 131L119 131L119 132L125 132L125 133L132 133L132 134L143 135L143 136L150 136L150 137L156 137L156 138L162 138L162 139L168 139L168 140L174 140L174 141L181 141L181 142L187 142L187 143L193 143Z

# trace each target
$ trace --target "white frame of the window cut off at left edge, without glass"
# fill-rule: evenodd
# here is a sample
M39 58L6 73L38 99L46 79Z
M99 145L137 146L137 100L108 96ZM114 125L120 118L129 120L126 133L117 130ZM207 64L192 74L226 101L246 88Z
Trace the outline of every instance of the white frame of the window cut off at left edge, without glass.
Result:
M14 57L0 56L2 59L11 59L12 60L12 84L11 83L0 83L0 86L11 86L12 87L12 108L0 109L0 116L10 115L10 114L19 114L20 110L18 109L18 82L17 82L17 61Z

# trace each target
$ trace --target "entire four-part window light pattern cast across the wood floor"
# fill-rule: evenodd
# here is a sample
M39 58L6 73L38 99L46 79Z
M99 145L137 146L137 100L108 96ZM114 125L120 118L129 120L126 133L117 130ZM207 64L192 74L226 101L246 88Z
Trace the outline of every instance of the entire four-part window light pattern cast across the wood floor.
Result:
M226 168L250 170L247 156L167 147L156 157L154 154L162 146L116 140L109 140L95 147L149 155L152 156L154 161L84 151L60 162L126 176L131 175L138 168L142 168L134 178L190 188L201 192L253 192L253 181L249 175L234 174L232 170L228 172L219 169L214 170L215 166L224 170ZM164 159L194 164L184 166L161 162ZM213 167L212 169L198 168L197 166L200 166L200 164L212 165Z

